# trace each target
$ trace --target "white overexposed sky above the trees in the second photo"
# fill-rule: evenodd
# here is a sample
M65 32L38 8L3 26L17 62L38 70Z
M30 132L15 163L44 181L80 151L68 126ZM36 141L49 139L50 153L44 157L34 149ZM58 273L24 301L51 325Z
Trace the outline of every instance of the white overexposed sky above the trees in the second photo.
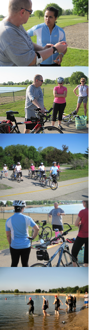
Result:
M13 82L21 82L27 79L33 80L35 74L41 74L45 79L55 80L58 75L63 78L71 76L71 74L75 71L83 72L87 77L89 77L88 66L61 66L59 67L59 73L57 67L47 67L47 71L45 67L0 67L0 83L4 81L13 81Z

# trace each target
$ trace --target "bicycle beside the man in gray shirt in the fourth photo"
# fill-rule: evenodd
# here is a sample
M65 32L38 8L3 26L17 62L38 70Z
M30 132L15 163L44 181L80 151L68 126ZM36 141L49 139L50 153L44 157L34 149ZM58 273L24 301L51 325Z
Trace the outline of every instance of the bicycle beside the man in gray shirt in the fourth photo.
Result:
M38 236L39 236L39 240L41 239L44 239L44 242L48 242L50 239L51 239L51 236L52 236L52 230L50 227L46 226L44 228L44 226L46 225L46 220L42 220L43 222L43 225L41 226L40 223L39 223L39 220L35 221L37 223L37 225L39 225L39 233L38 233ZM32 229L32 233L31 233L31 236L33 236L33 233L34 233L34 229ZM38 241L37 241L38 242ZM32 243L32 242L31 242Z

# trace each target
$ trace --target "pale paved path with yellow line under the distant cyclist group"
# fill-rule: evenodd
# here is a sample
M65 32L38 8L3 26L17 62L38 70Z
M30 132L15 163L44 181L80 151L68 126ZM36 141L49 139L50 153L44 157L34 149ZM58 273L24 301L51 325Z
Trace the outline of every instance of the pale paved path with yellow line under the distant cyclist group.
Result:
M23 182L12 182L11 174L12 171L8 171L8 180L4 177L0 183L6 184L11 188L10 190L0 190L0 200L13 200L15 198L25 199L25 200L41 200L41 199L54 199L61 198L66 194L74 193L74 200L76 199L76 192L83 192L85 189L88 189L88 177L72 179L68 181L58 181L58 188L53 191L49 186L47 188L43 188L40 185L39 181L35 181L34 179L28 178L28 170L23 170ZM84 194L85 195L85 194ZM79 194L80 197L80 194ZM69 198L68 198L69 199ZM71 198L72 199L72 198ZM79 198L81 200L82 198Z

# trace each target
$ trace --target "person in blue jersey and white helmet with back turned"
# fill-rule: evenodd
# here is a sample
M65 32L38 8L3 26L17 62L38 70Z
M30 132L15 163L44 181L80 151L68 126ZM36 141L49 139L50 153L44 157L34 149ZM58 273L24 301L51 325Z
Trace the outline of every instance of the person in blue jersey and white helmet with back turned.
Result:
M22 214L26 203L24 200L14 200L14 215L6 220L5 230L7 241L10 245L11 267L17 267L21 257L22 267L29 267L28 260L31 251L31 243L28 239L28 226L34 228L33 239L37 237L39 227L29 216Z

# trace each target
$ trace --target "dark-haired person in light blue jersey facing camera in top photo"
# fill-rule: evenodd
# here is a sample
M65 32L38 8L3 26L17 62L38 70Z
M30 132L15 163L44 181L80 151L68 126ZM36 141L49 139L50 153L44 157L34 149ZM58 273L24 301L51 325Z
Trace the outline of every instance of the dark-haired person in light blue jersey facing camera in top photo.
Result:
M64 30L55 24L57 16L58 9L49 6L45 9L45 23L35 25L27 31L30 37L37 35L37 45L45 47L46 44L53 46L60 41L66 42ZM60 54L55 50L40 66L60 66L66 52L67 48Z

